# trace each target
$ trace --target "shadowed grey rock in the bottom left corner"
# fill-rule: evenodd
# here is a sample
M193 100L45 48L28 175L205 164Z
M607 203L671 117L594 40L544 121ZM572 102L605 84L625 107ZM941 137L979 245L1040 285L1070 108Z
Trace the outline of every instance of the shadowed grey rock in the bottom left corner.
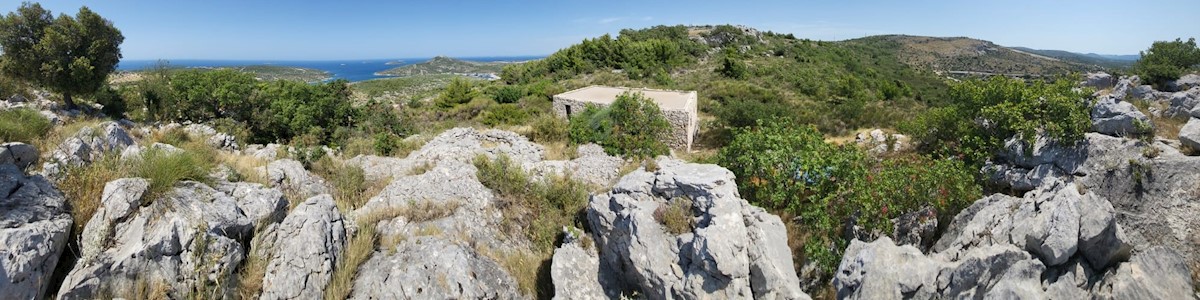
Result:
M71 224L54 185L0 163L0 299L47 296Z

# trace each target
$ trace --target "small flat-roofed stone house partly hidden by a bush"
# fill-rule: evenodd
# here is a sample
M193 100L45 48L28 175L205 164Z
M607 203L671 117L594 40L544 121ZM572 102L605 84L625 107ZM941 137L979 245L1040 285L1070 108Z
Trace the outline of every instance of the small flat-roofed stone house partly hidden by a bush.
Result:
M696 91L674 91L634 88L613 88L592 85L554 95L554 113L570 119L583 112L589 104L607 107L624 92L640 92L654 101L662 109L662 115L671 122L671 137L664 140L673 149L691 151L691 142L696 136Z

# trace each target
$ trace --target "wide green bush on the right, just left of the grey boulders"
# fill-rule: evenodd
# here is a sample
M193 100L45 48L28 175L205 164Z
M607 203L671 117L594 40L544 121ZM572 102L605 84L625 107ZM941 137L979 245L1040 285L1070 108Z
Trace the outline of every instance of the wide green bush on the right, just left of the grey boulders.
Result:
M996 77L968 80L950 89L949 103L906 122L901 130L934 157L959 157L978 166L1020 136L1031 143L1039 133L1073 144L1091 127L1091 108L1072 80L1026 83Z

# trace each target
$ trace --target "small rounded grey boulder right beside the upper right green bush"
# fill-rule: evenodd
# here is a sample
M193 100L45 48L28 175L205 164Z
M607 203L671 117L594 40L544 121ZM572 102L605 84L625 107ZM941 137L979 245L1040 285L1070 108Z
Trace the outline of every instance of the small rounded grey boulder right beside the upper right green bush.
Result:
M1102 96L1092 107L1092 131L1124 137L1148 133L1153 130L1150 118L1129 102Z

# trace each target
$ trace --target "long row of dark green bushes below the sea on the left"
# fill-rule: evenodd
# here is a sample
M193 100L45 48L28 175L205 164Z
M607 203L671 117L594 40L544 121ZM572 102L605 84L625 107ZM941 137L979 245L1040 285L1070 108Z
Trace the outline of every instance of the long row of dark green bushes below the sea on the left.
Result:
M246 130L250 143L301 140L337 144L367 120L372 131L402 131L401 118L378 103L360 110L352 106L344 80L306 84L259 82L233 70L151 72L130 86L131 116L150 121L223 122ZM107 107L106 107L107 108ZM373 133L373 132L370 132Z

